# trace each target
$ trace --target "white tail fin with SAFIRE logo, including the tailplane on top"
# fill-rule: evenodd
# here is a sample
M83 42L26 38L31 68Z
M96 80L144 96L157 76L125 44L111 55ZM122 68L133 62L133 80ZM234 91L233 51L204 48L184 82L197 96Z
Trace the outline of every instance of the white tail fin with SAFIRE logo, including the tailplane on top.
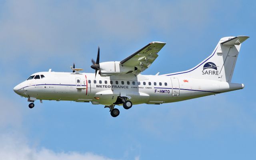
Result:
M236 60L248 36L224 37L218 42L212 54L190 70L165 74L173 77L191 77L231 82Z

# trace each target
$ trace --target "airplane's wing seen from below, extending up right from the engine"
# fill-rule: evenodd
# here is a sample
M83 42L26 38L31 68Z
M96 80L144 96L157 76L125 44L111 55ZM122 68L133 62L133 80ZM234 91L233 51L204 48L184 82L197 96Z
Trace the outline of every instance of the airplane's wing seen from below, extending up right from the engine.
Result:
M158 57L158 52L164 47L164 42L151 42L131 56L120 62L122 66L135 67L133 74L138 75L146 70Z

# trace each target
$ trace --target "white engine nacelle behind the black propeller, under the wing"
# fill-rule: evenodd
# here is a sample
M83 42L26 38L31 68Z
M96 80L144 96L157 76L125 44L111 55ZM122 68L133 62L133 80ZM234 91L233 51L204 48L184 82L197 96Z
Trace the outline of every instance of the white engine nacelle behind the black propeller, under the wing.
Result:
M120 61L100 63L101 76L111 76L114 74L126 74L133 72L135 67L122 66Z

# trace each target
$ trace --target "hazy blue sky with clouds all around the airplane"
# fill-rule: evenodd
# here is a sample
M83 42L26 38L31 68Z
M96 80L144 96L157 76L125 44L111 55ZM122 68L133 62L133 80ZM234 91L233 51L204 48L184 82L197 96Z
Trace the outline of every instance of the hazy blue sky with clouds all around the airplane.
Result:
M256 2L14 1L0 0L1 159L255 159ZM234 92L162 105L120 109L102 105L35 102L29 109L13 87L30 74L85 72L100 61L123 60L148 42L167 44L143 74L187 70L224 36L242 44Z

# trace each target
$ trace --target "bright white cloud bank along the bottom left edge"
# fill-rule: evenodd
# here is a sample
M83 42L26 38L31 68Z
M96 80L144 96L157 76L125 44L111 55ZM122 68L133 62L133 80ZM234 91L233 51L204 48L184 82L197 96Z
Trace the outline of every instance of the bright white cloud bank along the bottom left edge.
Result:
M46 148L37 149L14 135L0 135L0 142L2 160L111 160L90 152L54 152Z

